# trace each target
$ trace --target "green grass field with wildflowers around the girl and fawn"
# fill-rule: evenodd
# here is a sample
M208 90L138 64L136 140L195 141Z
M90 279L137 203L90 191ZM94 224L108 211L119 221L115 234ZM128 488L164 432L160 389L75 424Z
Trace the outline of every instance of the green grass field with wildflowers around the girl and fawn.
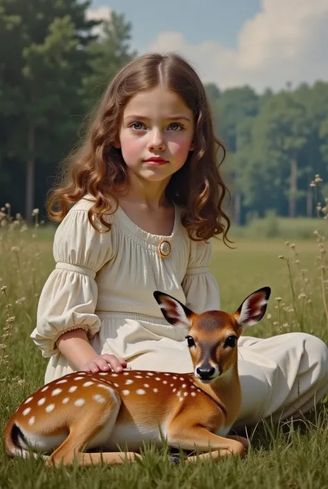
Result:
M42 385L46 367L46 359L29 338L39 293L53 268L52 243L46 239L51 232L41 232L39 237L38 232L0 230L0 288L6 286L0 295L1 441L11 413ZM215 243L211 268L221 289L221 308L233 312L246 295L268 285L272 295L266 317L247 334L266 337L302 330L327 342L324 246L316 237L296 241L295 248L283 240L236 239L235 250ZM306 418L259 424L248 432L250 450L244 460L195 465L182 461L174 466L165 450L145 447L140 463L55 470L44 467L42 461L10 460L1 443L0 488L326 488L327 409L327 400L322 400Z

